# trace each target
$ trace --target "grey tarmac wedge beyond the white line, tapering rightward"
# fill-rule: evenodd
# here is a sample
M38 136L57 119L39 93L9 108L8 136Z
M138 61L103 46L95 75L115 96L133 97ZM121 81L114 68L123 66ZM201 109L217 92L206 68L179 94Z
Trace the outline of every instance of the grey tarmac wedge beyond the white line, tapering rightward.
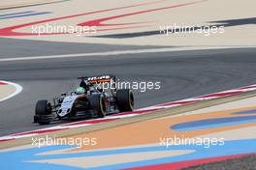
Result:
M0 58L104 52L125 49L149 49L154 45L109 45L79 42L45 42L0 38ZM170 47L170 46L169 46Z

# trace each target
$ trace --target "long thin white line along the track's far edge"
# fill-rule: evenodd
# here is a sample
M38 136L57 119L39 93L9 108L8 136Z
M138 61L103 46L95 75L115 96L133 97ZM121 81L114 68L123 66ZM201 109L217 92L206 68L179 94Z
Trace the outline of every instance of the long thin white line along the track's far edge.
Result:
M60 59L60 58L78 58L88 56L110 56L122 54L141 54L141 53L157 53L157 52L175 52L188 50L208 50L208 49L230 49L230 48L255 48L256 46L186 46L186 47L168 47L168 48L151 48L151 49L132 49L122 51L106 51L64 55L48 55L48 56L30 56L30 57L7 57L0 59L0 62L26 61L26 60L43 60L43 59Z

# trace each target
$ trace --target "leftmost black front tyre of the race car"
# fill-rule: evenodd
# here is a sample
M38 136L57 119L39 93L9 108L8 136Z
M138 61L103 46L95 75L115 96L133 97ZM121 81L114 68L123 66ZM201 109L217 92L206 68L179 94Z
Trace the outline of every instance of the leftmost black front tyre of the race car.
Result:
M35 111L36 116L34 122L40 125L48 125L52 120L51 104L47 99L38 100Z

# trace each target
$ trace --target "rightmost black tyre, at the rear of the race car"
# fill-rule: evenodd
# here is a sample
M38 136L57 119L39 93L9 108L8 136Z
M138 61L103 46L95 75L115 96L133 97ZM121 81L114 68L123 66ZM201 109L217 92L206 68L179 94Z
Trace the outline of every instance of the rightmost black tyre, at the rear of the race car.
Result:
M116 104L120 112L133 111L134 96L130 89L120 89L116 92Z

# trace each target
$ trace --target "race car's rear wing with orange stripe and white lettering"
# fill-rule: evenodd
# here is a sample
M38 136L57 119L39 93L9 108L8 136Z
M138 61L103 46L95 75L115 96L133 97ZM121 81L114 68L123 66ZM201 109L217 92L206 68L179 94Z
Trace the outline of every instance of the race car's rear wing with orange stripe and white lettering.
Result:
M99 76L80 76L81 80L87 80L90 84L99 84L105 82L115 82L115 75L99 75Z

